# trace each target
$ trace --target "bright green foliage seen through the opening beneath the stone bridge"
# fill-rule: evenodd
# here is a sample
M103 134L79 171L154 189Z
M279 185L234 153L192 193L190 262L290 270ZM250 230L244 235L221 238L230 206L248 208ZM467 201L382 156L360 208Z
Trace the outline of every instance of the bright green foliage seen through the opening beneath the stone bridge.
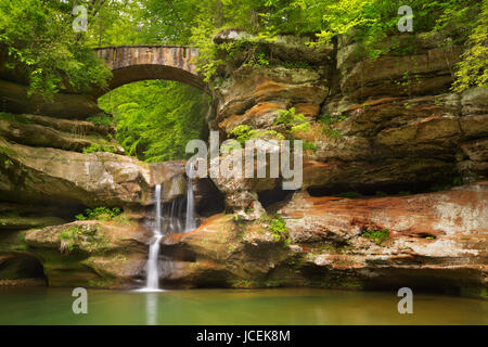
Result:
M189 140L205 138L208 97L175 81L147 80L117 88L99 104L114 115L116 140L146 162L185 158Z

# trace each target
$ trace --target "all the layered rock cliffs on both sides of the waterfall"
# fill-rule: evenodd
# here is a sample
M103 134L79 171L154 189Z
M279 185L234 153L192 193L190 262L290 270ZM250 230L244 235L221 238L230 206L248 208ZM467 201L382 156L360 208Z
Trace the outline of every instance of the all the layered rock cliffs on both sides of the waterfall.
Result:
M216 42L240 38L248 36L228 30ZM419 37L411 53L373 60L345 38L321 49L306 40L259 42L253 49L268 64L244 64L247 53L236 52L215 80L209 121L221 140L247 126L265 140L311 143L301 187L283 191L283 177L269 176L194 180L207 218L163 240L162 282L486 296L488 92L450 92L462 48ZM153 188L162 185L164 203L184 195L185 163L125 156L113 129L76 119L75 108L63 114L75 94L30 110L14 87L0 92L20 105L14 118L0 117L0 284L141 285ZM277 121L292 107L307 129ZM232 166L243 154L219 158ZM369 197L331 196L344 193ZM75 221L97 206L120 207L124 218Z

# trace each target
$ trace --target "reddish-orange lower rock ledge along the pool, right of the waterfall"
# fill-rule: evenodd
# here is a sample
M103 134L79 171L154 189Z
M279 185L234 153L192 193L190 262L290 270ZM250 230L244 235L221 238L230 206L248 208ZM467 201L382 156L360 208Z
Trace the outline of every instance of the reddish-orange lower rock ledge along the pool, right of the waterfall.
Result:
M486 296L488 182L372 198L297 193L272 221L208 218L169 235L166 283L179 286L445 290Z

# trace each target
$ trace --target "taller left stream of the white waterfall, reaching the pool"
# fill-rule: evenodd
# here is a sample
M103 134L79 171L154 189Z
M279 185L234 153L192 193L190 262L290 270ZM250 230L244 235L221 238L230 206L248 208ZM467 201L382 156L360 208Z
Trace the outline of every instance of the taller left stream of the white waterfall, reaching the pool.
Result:
M150 252L147 259L147 278L145 288L143 291L159 291L159 271L158 271L158 258L159 258L159 242L163 237L160 232L160 184L156 185L156 222L153 230L153 237L150 241Z

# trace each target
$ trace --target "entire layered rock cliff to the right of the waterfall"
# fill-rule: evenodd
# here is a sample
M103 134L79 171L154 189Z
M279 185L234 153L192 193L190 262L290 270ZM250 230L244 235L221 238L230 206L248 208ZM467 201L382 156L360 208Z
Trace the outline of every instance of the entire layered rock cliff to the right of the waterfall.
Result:
M248 38L231 31L216 41ZM436 35L419 37L413 53L374 60L344 38L320 50L285 38L260 42L254 49L269 59L260 66L234 54L215 88L210 128L223 139L247 126L265 139L313 143L304 182L286 192L282 177L215 178L234 214L164 240L166 283L409 286L486 297L488 90L450 92L463 49L440 49L446 37ZM291 107L308 129L277 121ZM220 163L243 155L234 150ZM344 192L391 196L330 196Z

